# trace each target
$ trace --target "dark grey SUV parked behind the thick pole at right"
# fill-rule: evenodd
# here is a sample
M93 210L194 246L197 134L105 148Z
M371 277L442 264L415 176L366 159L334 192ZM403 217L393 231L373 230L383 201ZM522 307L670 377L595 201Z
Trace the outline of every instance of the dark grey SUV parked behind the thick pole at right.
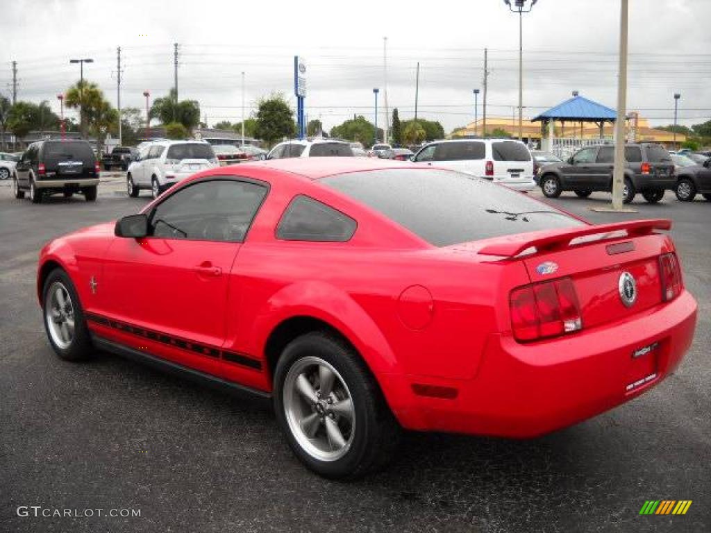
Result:
M580 198L594 190L612 190L612 170L615 147L612 144L579 149L567 161L540 169L538 183L548 198L557 198L564 190L572 190ZM626 144L624 147L624 203L641 193L649 203L657 203L665 190L676 188L674 163L660 144Z

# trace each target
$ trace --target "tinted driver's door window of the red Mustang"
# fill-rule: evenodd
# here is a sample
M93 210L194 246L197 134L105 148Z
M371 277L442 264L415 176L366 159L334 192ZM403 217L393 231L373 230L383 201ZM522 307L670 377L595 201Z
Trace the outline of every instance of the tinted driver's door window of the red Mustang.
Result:
M154 237L242 242L262 205L267 187L235 180L188 185L151 214Z

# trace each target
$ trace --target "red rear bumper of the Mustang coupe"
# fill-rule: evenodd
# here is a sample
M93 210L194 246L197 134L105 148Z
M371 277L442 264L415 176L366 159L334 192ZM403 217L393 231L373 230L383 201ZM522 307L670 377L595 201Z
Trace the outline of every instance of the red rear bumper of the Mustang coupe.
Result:
M401 403L404 408L395 414L409 429L516 438L546 434L623 404L661 382L688 350L695 324L696 302L685 291L634 320L567 338L523 345L510 335L491 335L471 379L406 379L452 387L457 390L454 399L418 397L410 389L410 404ZM658 343L656 350L632 357L653 343ZM642 357L656 357L655 377L629 390L638 380L631 370Z

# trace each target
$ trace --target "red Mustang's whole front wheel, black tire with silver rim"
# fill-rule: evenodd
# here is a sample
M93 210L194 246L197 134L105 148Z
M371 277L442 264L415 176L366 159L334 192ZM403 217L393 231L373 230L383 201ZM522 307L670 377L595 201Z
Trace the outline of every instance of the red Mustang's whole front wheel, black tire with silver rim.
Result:
M50 272L42 288L45 330L55 353L68 361L92 357L91 337L79 296L63 269Z

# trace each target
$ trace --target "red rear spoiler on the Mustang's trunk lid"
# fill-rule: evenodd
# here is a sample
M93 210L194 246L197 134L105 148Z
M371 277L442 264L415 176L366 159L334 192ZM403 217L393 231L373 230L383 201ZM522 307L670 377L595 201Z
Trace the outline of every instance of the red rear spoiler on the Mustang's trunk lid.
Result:
M668 230L671 220L656 218L651 220L630 220L629 222L615 222L614 224L601 224L582 227L571 227L565 230L540 231L520 233L502 237L497 242L486 244L476 253L482 255L496 255L500 257L515 257L529 248L538 252L552 251L567 247L572 239L611 232L624 231L627 237L649 235L654 230Z

